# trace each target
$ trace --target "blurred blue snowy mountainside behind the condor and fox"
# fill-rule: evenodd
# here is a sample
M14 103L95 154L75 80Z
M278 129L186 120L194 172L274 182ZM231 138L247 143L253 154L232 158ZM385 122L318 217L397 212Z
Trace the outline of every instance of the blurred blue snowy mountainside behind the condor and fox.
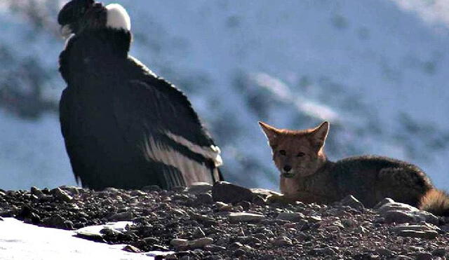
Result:
M449 190L448 1L116 2L131 54L188 95L227 180L278 189L257 121L328 120L331 159L408 160ZM0 189L76 184L58 121L63 4L0 2Z

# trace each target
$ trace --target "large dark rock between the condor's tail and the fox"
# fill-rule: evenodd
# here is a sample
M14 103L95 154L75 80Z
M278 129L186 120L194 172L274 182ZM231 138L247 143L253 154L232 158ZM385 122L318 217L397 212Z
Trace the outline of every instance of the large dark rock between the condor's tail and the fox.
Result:
M229 182L215 182L212 188L212 198L214 201L222 201L224 203L240 203L242 201L252 201L253 192L250 189Z

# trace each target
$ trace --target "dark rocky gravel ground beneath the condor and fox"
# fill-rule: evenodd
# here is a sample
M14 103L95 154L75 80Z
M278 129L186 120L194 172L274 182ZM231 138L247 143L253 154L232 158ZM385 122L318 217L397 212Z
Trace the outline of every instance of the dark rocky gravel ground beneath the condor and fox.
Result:
M445 259L449 219L385 199L367 209L351 196L333 205L267 203L268 191L225 182L163 191L1 191L0 216L78 229L88 239L124 243L128 251L173 251L168 259Z

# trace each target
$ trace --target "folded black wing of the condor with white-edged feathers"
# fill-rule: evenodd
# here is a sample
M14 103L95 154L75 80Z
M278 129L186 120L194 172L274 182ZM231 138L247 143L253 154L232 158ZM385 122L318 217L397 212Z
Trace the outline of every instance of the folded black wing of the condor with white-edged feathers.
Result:
M175 167L182 173L185 183L163 172L167 186L218 180L220 149L180 90L148 75L117 85L114 91L114 115L123 137L141 149L147 160Z

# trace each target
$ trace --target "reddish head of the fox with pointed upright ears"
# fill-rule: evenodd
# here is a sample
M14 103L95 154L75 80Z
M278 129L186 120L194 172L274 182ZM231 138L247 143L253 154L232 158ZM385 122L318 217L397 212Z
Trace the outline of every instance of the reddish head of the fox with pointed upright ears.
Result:
M323 147L328 136L328 122L306 130L278 129L267 123L259 124L272 147L274 164L283 177L313 175L326 163Z

